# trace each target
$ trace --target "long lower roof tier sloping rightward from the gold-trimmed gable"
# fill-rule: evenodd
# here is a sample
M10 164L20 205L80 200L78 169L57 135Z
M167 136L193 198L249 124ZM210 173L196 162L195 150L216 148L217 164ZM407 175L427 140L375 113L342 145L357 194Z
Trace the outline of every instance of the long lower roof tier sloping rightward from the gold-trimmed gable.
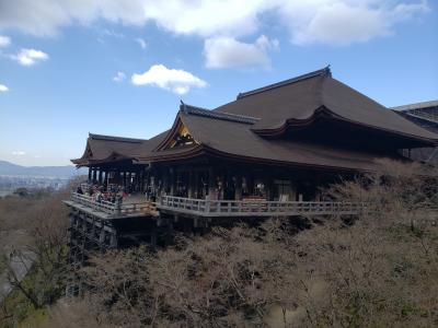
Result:
M184 115L181 116L181 119L200 147L243 160L350 171L373 171L380 167L377 161L379 156L372 153L341 150L302 141L267 140L251 131L250 125L217 120L205 116ZM160 161L162 157L169 157L172 153L188 154L195 148L159 151L147 157L151 162Z

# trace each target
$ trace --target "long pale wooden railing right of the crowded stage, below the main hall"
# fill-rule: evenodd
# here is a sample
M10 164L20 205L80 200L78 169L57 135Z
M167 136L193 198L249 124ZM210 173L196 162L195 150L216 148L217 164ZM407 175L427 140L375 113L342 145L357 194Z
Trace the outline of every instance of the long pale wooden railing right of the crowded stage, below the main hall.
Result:
M201 216L286 216L358 214L367 209L367 204L334 201L205 200L163 196L157 208Z

